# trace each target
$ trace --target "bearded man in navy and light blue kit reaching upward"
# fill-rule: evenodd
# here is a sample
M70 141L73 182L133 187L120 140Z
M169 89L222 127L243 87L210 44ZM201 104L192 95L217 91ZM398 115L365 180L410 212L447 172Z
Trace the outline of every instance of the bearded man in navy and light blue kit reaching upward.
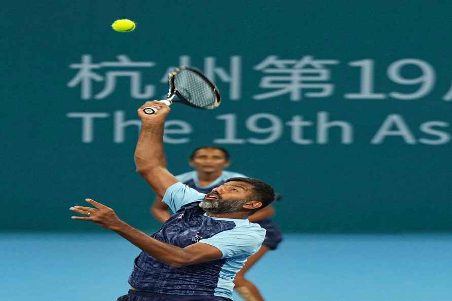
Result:
M158 111L146 115L147 106ZM208 194L182 184L166 168L162 138L169 111L159 101L138 109L142 126L135 164L175 214L152 236L91 199L87 202L95 208L70 208L88 216L72 218L98 223L142 250L129 277L131 288L118 301L232 300L235 275L265 239L265 229L247 217L268 206L275 193L268 184L243 177L228 179Z

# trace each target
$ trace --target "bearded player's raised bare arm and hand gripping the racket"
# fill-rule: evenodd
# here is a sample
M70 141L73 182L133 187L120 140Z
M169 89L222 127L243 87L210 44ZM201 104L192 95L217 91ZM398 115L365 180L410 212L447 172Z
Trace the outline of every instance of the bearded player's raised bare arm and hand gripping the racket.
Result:
M152 106L158 108L156 114L147 115L143 108ZM135 148L136 172L139 173L156 192L163 198L169 186L178 182L166 168L163 150L163 129L165 119L170 111L169 106L157 100L146 101L139 109L141 130Z

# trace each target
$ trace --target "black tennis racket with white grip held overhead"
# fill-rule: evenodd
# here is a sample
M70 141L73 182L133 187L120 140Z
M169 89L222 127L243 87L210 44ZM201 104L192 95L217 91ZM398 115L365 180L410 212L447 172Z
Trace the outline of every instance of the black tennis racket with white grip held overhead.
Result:
M168 84L168 95L160 100L166 105L180 102L202 109L213 109L220 105L220 93L217 87L195 68L175 68L168 74ZM149 115L155 114L157 110L150 106L143 108L143 111Z

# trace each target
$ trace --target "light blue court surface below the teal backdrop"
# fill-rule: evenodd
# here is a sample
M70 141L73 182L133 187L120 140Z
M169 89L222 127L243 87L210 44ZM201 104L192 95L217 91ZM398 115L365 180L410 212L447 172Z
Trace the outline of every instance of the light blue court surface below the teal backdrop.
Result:
M115 301L138 252L111 233L2 234L0 300ZM450 301L452 235L285 235L249 278L269 301Z

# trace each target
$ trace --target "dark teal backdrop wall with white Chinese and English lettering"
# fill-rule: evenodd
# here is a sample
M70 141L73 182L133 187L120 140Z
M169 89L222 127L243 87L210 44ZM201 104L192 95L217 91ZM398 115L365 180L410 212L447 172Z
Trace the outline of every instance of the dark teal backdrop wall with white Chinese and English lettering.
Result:
M452 231L452 4L14 1L3 5L2 231L105 231L70 219L89 197L145 231L136 109L190 64L215 110L174 105L171 172L191 150L284 196L286 232ZM116 19L133 32L111 29Z

